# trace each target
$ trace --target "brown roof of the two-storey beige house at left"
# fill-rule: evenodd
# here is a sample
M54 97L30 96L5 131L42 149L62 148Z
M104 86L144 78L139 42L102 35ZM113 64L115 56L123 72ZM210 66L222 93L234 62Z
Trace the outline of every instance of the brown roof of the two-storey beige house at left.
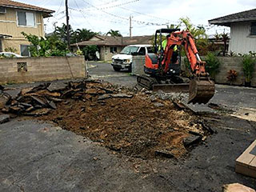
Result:
M48 10L39 6L32 6L23 2L14 2L10 0L0 0L0 6L17 8L22 10L36 10L44 13L44 17L49 17L50 14L54 13L54 10Z

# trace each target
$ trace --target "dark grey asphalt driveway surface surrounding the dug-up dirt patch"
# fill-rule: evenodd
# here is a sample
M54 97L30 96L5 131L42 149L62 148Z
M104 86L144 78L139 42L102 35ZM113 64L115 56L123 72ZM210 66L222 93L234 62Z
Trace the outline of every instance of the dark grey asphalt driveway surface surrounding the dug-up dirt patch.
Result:
M133 87L136 78L110 64L90 63L92 78ZM14 85L18 87L24 85ZM256 91L217 86L213 101L256 108ZM256 138L256 122L228 115L204 117L215 134L186 158L143 160L120 156L49 122L14 118L0 125L0 191L222 191L256 180L234 172L235 159Z

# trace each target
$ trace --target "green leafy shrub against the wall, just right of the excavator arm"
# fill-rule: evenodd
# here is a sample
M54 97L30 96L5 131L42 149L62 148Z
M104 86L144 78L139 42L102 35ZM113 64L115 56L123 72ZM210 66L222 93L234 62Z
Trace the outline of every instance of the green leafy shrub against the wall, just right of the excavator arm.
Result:
M215 78L216 74L218 74L220 64L221 62L215 54L211 52L206 54L206 72L210 74L211 78Z

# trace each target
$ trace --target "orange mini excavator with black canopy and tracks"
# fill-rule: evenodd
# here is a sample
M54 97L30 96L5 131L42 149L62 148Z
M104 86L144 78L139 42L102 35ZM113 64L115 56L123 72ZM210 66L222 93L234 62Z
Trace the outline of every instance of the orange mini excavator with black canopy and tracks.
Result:
M168 34L165 49L162 47L162 34ZM158 38L160 43L157 41ZM190 32L178 29L156 30L154 45L154 53L146 54L145 74L137 77L138 85L149 90L166 90L167 92L187 90L190 94L189 103L209 102L214 96L214 82L206 73L206 62L202 62ZM178 51L174 50L175 46L178 47ZM184 82L180 76L182 46L193 74L189 83Z

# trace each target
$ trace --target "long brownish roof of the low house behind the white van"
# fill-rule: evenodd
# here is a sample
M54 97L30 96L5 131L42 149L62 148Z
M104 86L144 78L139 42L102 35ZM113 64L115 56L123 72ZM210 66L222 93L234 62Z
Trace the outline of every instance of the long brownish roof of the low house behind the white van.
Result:
M135 44L150 44L151 35L146 36L134 36L130 37L112 37L106 35L95 35L94 38L98 38L98 40L92 40L92 38L88 41L78 42L78 46L128 46ZM77 44L72 44L71 46L76 46Z

